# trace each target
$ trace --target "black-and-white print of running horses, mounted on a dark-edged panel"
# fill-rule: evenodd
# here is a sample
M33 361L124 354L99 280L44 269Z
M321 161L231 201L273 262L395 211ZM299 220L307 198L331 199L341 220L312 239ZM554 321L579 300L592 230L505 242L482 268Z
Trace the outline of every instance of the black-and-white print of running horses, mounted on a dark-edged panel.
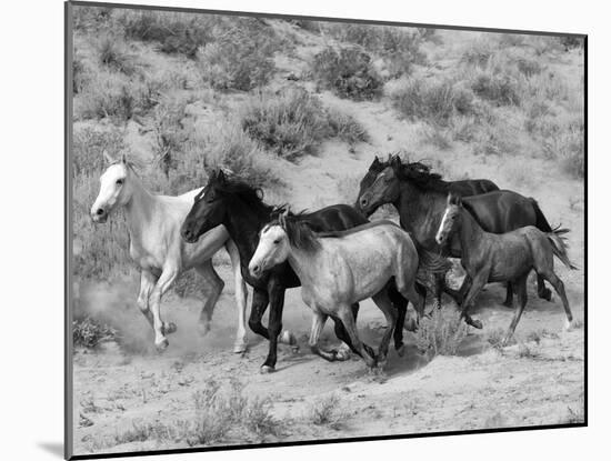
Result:
M585 425L587 52L67 2L66 457Z

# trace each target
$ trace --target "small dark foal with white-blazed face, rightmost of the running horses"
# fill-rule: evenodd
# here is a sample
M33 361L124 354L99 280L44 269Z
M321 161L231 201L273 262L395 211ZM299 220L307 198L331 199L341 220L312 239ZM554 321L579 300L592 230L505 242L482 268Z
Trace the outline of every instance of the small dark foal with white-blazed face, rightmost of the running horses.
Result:
M513 335L515 325L527 304L527 279L531 270L548 280L562 300L567 314L567 328L573 315L564 292L564 283L553 270L555 255L567 268L577 269L567 254L567 245L561 234L568 229L555 228L542 232L533 226L505 233L485 232L471 214L468 204L460 196L448 194L448 204L441 219L435 240L443 244L452 235L458 235L462 248L461 263L469 274L469 284L462 301L462 314L473 305L475 297L489 282L512 282L518 293L518 309L509 325L503 344Z

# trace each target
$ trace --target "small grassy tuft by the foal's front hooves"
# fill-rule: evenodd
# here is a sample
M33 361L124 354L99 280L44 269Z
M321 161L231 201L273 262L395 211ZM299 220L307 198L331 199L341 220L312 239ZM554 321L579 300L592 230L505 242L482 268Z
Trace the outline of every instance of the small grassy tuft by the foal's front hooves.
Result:
M468 327L458 311L435 309L420 321L415 345L432 355L455 355L467 332Z

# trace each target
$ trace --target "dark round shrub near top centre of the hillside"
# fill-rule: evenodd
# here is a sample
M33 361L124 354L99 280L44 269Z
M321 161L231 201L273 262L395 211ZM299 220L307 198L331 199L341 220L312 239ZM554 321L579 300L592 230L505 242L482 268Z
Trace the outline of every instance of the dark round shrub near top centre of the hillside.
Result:
M341 98L374 99L382 89L382 80L371 66L371 58L355 47L339 51L327 47L314 56L312 70L320 83Z

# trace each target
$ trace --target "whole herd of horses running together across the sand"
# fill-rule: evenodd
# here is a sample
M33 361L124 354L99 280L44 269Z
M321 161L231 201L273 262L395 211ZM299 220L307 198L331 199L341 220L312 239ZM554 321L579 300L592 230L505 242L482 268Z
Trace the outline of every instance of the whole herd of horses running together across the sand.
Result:
M141 269L138 307L154 331L158 350L168 347L176 324L161 319L161 298L183 271L194 269L203 279L204 302L199 319L202 333L210 329L214 305L224 282L212 265L212 255L226 248L236 279L238 327L234 352L247 347L247 283L252 287L248 325L269 341L261 370L276 369L278 342L296 345L282 331L284 292L301 287L312 312L309 344L329 361L345 360L350 350L369 368L382 368L391 339L403 353L403 329L414 331L425 313L432 279L437 308L442 292L455 300L461 318L474 328L481 321L469 311L489 282L507 283L504 304L518 308L508 329L509 341L527 304L527 279L534 270L538 294L548 301L548 281L572 314L562 281L553 270L557 257L575 269L567 254L563 234L552 229L537 201L490 180L444 181L421 162L399 156L378 157L363 177L353 206L334 204L315 212L293 213L288 206L263 201L261 189L231 172L217 169L206 187L179 197L149 192L123 156L109 162L100 178L100 191L91 208L94 222L106 222L124 209L130 234L130 255ZM391 203L400 223L368 218ZM445 283L447 258L460 258L465 270L460 290ZM385 318L387 328L375 351L357 330L359 302L371 298ZM408 311L412 304L415 315ZM268 327L262 318L270 307ZM409 313L409 315L408 315ZM324 350L318 340L331 318L342 341L338 350Z

